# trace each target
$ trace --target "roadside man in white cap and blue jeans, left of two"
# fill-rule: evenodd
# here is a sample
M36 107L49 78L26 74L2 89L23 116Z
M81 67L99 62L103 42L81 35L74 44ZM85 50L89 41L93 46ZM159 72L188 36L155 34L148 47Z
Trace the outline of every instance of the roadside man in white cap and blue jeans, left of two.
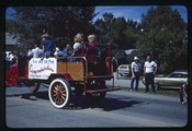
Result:
M132 71L131 92L133 91L134 82L135 82L135 91L136 92L138 91L140 70L142 70L142 64L139 62L139 58L135 56L134 61L131 64L131 71Z

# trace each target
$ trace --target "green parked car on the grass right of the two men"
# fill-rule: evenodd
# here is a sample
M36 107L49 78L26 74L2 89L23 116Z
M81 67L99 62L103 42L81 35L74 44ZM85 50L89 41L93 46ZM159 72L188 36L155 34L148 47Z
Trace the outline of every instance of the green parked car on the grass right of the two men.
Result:
M174 71L168 75L156 75L155 76L155 87L180 87L183 83L188 81L188 71L187 70L180 70ZM142 82L145 84L145 79L142 80Z

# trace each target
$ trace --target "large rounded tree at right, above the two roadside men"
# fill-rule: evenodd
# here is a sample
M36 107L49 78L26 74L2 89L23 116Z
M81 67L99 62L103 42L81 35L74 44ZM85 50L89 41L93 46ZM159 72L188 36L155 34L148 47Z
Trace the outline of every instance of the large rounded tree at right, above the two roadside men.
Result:
M188 56L183 43L185 27L177 10L171 10L168 5L153 7L147 14L142 15L136 48L144 57L150 53L157 60L160 72L171 72L179 69L176 63L180 63L181 57ZM187 69L187 62L180 68Z

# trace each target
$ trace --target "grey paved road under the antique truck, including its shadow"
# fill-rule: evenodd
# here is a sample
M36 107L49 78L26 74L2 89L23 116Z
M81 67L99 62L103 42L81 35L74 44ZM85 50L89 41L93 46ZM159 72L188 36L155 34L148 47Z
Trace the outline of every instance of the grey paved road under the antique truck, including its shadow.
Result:
M182 128L188 123L188 105L178 97L115 91L97 106L84 96L72 96L69 108L56 109L45 87L37 97L30 96L27 87L7 87L5 93L9 128Z

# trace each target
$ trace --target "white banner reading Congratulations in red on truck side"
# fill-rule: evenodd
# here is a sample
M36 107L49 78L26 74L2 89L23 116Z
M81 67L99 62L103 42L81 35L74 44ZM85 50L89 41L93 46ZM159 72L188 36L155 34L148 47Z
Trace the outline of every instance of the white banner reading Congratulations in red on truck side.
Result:
M50 73L56 73L57 60L55 58L32 58L29 62L29 79L47 80Z

